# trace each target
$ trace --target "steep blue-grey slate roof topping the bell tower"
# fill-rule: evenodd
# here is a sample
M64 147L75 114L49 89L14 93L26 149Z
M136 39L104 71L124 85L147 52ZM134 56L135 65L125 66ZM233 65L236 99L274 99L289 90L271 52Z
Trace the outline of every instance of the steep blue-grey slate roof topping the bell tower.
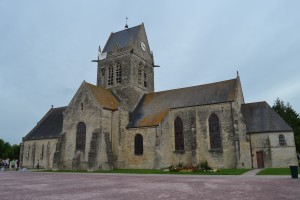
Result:
M109 36L102 53L109 52L118 44L120 48L126 47L130 44L130 41L136 41L138 33L141 29L141 25L124 29L122 31L111 33Z

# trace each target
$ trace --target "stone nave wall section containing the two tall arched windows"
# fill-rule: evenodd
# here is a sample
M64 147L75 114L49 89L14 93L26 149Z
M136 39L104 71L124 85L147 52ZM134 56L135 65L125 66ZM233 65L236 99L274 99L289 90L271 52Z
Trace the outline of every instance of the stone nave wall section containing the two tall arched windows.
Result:
M184 163L197 165L207 161L214 168L234 168L235 148L233 127L229 103L190 108L172 109L168 120L169 130L163 130L165 137L164 148L168 148L169 164ZM222 140L221 149L211 149L208 118L214 113L220 122ZM184 124L185 152L176 152L174 146L174 120L179 116ZM169 138L169 140L167 139Z

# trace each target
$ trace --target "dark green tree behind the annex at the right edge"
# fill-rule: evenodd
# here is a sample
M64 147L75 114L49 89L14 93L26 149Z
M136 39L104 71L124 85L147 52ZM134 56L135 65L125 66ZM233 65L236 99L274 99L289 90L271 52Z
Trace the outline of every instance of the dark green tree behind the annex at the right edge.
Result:
M289 103L277 98L272 107L294 129L297 152L300 152L300 116Z

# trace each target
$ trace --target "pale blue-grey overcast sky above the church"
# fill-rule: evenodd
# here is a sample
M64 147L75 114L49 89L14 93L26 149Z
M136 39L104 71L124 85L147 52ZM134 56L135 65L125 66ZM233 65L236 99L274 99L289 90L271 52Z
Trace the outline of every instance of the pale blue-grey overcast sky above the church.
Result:
M300 112L298 0L0 0L0 138L17 144L83 80L96 84L98 45L144 22L155 90L236 77L246 103Z

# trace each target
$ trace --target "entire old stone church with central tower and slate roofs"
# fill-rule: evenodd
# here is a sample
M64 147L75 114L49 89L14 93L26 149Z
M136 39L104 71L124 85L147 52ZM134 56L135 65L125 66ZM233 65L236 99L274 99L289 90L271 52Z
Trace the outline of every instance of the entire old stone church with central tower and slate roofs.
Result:
M291 127L266 102L245 103L240 77L154 91L144 24L99 47L97 84L83 81L66 107L51 108L23 137L23 167L161 169L297 163Z

